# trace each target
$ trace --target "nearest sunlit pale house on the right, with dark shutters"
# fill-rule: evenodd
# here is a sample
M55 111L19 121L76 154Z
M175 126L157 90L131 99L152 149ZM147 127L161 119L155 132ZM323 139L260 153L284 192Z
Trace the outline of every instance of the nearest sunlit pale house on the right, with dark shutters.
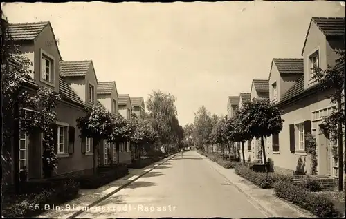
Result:
M345 49L344 33L345 17L312 17L302 59L273 59L270 99L283 111L284 120L282 131L268 138L271 145L268 157L273 160L275 171L311 173L311 157L306 151L309 144L306 134L311 133L317 144L318 175L338 178L338 164L332 158L337 142L329 141L319 126L322 117L330 115L336 106L327 98L329 92L318 90L312 75L313 66L326 69L327 65L335 64L335 50Z

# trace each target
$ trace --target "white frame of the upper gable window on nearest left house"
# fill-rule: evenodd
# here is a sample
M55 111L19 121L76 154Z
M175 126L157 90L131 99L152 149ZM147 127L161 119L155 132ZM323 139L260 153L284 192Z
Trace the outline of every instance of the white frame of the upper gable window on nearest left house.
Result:
M46 61L49 61L49 74L48 80L46 79ZM55 58L47 53L45 50L41 49L40 54L40 81L49 86L55 87Z

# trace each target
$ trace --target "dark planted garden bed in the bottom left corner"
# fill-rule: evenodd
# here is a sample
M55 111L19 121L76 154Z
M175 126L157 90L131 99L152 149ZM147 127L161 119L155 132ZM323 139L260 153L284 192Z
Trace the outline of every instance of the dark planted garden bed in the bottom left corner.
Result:
M76 198L79 189L80 185L73 179L24 182L20 194L3 194L1 213L6 218L34 217L47 204L63 204Z

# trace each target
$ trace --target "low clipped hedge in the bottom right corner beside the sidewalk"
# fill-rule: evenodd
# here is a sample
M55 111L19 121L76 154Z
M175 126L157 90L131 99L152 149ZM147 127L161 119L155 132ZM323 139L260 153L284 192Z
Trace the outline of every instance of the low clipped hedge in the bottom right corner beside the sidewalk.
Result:
M293 182L277 180L274 184L277 197L284 198L303 209L307 209L319 218L338 216L334 204L328 198L316 193L311 193L304 187Z

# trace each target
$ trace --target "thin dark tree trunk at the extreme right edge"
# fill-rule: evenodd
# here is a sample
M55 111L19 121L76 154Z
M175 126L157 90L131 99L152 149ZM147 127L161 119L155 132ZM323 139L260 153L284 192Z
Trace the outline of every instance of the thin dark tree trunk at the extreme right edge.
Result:
M343 113L341 112L341 92L340 95L338 96L338 102L337 102L338 106L338 112L339 113ZM338 181L339 181L339 186L338 189L339 191L343 191L343 123L340 121L338 122L338 157L339 157L339 174L338 174Z

